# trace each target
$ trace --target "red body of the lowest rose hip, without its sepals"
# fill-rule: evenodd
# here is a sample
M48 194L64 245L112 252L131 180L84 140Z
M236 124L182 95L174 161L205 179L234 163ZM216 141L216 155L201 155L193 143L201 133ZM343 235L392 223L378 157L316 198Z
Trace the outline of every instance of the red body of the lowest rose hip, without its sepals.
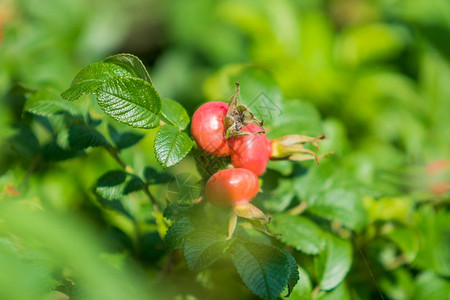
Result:
M219 207L247 204L258 194L258 177L246 169L226 169L206 183L206 199Z

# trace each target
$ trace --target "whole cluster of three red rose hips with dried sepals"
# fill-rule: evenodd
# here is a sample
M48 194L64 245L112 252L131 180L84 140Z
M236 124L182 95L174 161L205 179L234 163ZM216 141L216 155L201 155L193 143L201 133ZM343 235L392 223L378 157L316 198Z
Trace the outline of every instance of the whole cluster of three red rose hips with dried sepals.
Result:
M233 168L220 170L209 178L205 187L206 199L218 207L232 206L229 237L237 217L268 222L268 218L250 201L260 191L258 176L266 171L270 159L302 161L319 160L303 146L325 138L288 135L270 141L263 122L245 106L238 104L239 84L229 103L207 102L194 113L191 133L198 147L216 157L230 156Z

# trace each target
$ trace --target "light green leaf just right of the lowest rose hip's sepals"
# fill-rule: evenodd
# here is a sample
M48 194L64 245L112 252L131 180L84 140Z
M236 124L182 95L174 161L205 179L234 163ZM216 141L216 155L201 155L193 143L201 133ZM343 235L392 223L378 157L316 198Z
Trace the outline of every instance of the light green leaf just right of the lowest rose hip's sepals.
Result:
M285 244L306 254L318 254L325 246L326 238L314 222L301 216L274 215L269 229Z

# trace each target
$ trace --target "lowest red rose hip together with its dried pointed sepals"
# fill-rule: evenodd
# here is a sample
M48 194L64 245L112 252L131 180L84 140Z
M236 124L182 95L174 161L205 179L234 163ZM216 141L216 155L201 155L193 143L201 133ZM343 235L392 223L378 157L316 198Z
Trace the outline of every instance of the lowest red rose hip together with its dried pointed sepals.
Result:
M258 177L247 169L225 169L209 178L205 187L206 200L221 208L232 207L228 239L234 232L237 217L269 222L269 218L259 208L250 204L258 192Z

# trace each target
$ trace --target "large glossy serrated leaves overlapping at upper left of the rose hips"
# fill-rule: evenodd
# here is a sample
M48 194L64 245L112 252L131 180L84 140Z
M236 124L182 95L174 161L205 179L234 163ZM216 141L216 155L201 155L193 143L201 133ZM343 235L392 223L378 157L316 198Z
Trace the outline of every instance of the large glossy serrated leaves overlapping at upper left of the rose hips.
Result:
M111 56L81 70L69 89L67 100L84 94L97 96L100 108L110 117L132 127L155 128L161 99L140 60L130 54Z

